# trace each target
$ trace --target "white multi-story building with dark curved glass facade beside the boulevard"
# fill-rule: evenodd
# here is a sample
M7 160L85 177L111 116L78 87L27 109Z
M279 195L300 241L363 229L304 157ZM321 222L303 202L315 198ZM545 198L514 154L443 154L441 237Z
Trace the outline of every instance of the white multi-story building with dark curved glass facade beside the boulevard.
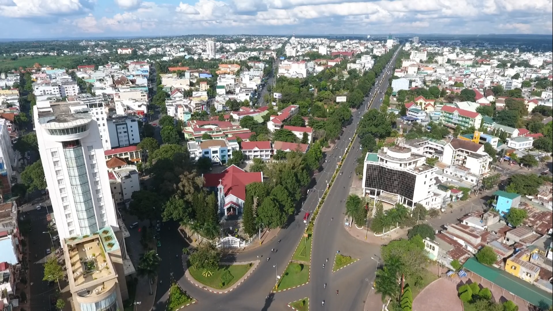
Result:
M437 168L425 163L426 157L407 147L381 148L367 153L363 169L364 194L383 204L401 203L409 208L433 206Z

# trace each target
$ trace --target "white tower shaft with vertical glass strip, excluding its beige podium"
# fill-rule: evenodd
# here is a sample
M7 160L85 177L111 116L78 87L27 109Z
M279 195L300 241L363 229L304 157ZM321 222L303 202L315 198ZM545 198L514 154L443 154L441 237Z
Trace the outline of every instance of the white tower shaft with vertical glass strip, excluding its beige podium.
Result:
M105 226L117 231L96 116L78 102L40 103L33 116L60 239Z

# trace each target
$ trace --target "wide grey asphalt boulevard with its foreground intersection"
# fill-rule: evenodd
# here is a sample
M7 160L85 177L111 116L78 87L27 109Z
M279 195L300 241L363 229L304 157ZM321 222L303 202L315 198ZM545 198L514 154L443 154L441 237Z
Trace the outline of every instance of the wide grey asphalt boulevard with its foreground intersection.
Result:
M390 63L393 63L393 61ZM393 65L391 68L393 68ZM383 81L387 81L388 79L388 77L384 79L385 72L387 71L383 71L381 75L381 79ZM377 80L377 85L378 81L379 80ZM382 91L382 86L373 87L373 89L378 90L376 92L380 93L380 91ZM386 87L383 88L384 91L385 89ZM369 96L374 94L375 90L371 91ZM367 104L369 102L370 101L365 101L363 106L359 108L358 111L366 111ZM356 272L354 273L355 275L352 274L347 277L345 273L341 273L342 271L340 271L336 273L336 278L333 279L332 282L344 291L342 296L339 296L341 298L340 300L347 300L348 304L352 307L361 306L362 308L364 298L367 297L375 271L375 262L372 264L369 262L371 261L371 256L364 255L372 253L373 251L377 252L378 247L367 247L367 244L362 244L361 242L356 241L353 237L349 236L345 230L340 230L338 227L343 226L342 220L344 208L343 204L339 204L339 200L346 199L348 194L348 190L346 190L345 187L348 186L349 188L352 180L351 178L348 178L349 172L338 176L338 179L331 190L331 194L327 196L325 208L319 215L319 220L317 220L315 237L318 236L319 238L316 238L314 241L314 256L312 259L314 266L312 267L310 284L304 287L296 288L293 291L270 294L270 291L276 283L277 272L278 274L283 272L283 269L290 261L290 257L293 255L295 247L301 239L302 233L305 231L305 224L302 221L305 211L312 213L312 211L316 208L317 203L326 188L328 179L330 179L332 174L335 172L337 162L342 160L342 155L350 139L353 137L353 133L355 132L361 117L362 115L359 115L357 112L353 113L352 122L343 129L342 135L339 139L337 139L333 151L330 152L330 154L326 153L326 162L322 164L323 169L315 175L315 186L306 196L306 200L302 206L302 211L300 211L299 215L296 215L295 220L290 226L281 230L278 237L281 241L278 242L278 239L274 239L259 248L255 248L253 251L240 253L236 255L236 258L231 258L236 262L242 262L257 260L258 256L261 257L260 266L251 274L246 282L234 289L234 291L226 294L214 294L197 288L187 281L183 275L184 272L182 271L180 262L178 262L176 258L176 255L181 252L182 247L184 246L184 241L182 241L180 236L176 234L176 225L173 227L171 224L165 224L165 226L171 226L171 228L169 229L165 227L160 232L163 245L161 246L161 249L158 249L158 252L164 261L159 271L159 279L161 284L158 284L158 291L156 292L155 297L156 303L154 304L153 310L165 309L166 301L168 299L169 281L172 278L176 279L179 285L185 289L188 294L199 300L197 304L187 307L187 309L190 310L288 310L289 308L286 306L287 303L308 296L310 296L312 301L311 310L315 310L317 307L317 304L315 303L317 299L323 299L323 284L325 282L330 282L325 281L325 277L330 278L330 271L332 269L331 265L329 265L328 268L325 268L325 271L322 271L322 262L326 258L329 258L329 262L333 261L333 257L331 255L336 252L336 243L338 241L341 243L342 249L347 250L347 255L362 258L362 261L352 266L355 267L355 270L351 270ZM358 143L356 143L356 146L358 147ZM345 165L343 166L344 172L346 172L346 170L353 171L355 165L354 160L355 157L349 157L346 159ZM340 186L342 186L342 188L340 188ZM331 206L332 209L329 209L329 206ZM330 221L331 218L333 218L332 221ZM325 224L325 222L327 224ZM325 226L322 226L321 224L325 224ZM338 239L338 235L342 238ZM322 246L319 246L320 243L322 243ZM326 245L326 243L328 243L328 245ZM271 253L270 250L272 248L275 248L278 251L276 253ZM270 257L269 261L265 259L267 257ZM372 268L367 269L367 266L370 265L372 265ZM172 277L170 276L171 273L173 273ZM345 291L347 288L346 286L352 285L355 287L354 289L349 290L348 295ZM331 289L328 289L328 291L330 290ZM266 297L268 295L269 298L267 299ZM337 299L334 298L334 300ZM338 302L336 302L336 305L338 305ZM359 309L357 307L355 308Z

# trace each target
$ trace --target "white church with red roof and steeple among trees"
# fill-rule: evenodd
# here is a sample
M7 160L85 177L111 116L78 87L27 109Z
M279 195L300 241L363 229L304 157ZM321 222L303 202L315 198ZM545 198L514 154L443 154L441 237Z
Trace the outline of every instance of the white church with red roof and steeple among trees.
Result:
M226 216L242 215L246 201L246 186L263 182L263 172L248 173L236 165L231 165L222 173L204 174L204 186L216 190L219 213Z

